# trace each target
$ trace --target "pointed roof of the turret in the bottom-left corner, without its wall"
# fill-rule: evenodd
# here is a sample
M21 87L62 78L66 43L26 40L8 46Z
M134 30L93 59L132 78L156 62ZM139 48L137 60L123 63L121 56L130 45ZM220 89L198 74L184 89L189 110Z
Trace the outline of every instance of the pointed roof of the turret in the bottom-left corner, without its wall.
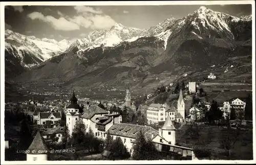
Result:
M40 131L37 131L35 138L31 143L31 145L29 146L28 150L30 151L29 154L42 154L42 153L38 153L38 151L47 151L47 152L49 151L49 148L45 144L45 140L42 137ZM33 150L35 150L34 153L32 153Z

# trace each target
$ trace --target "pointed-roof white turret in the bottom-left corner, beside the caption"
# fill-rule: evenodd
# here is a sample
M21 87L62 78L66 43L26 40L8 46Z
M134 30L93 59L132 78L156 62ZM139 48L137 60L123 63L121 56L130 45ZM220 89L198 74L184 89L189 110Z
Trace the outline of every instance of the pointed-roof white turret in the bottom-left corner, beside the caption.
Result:
M48 160L48 153L50 152L44 138L38 130L33 142L27 150L27 161L42 161Z

